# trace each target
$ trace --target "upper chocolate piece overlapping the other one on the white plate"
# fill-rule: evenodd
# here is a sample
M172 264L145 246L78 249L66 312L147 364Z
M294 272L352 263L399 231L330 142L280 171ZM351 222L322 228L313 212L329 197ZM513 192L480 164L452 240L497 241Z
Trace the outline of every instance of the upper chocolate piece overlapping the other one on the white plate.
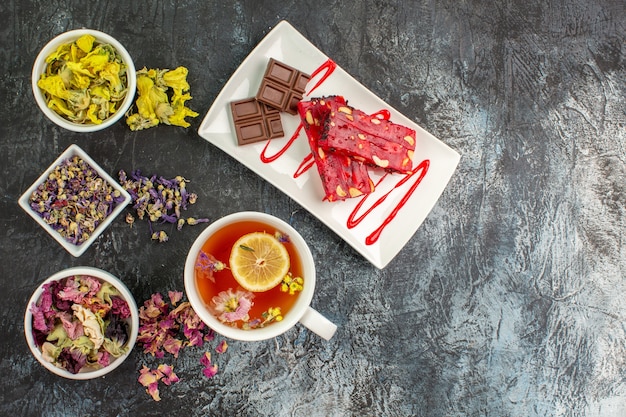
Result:
M256 99L289 114L298 114L298 103L311 76L270 58Z

